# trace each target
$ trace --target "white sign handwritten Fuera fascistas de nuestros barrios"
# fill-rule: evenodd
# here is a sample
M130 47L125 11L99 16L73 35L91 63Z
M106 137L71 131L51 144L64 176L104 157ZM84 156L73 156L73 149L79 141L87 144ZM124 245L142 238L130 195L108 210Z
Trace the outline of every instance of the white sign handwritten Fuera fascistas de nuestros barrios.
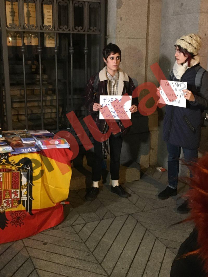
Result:
M131 96L100 95L100 119L131 119Z

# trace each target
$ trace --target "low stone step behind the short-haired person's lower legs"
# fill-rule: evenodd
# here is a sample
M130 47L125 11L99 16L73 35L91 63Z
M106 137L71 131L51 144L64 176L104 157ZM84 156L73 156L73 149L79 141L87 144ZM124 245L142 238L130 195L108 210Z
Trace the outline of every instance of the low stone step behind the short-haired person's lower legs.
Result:
M82 172L85 172L83 174ZM107 162L107 170L105 170L105 179L101 179L99 181L99 186L112 184L109 172L109 161ZM75 168L72 166L72 178L70 181L70 190L74 189L83 189L91 186L92 180L92 168L88 165L84 165L84 168ZM119 171L119 183L132 182L140 179L140 168L139 165L137 167L127 167L124 165L120 165Z

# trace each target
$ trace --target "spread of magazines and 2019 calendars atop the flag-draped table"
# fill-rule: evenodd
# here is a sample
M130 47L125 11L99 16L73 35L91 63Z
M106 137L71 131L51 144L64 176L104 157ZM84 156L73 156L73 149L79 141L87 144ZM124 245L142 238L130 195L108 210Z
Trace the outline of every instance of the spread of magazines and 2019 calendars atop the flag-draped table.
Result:
M37 152L41 149L69 148L69 143L47 130L0 130L0 153Z

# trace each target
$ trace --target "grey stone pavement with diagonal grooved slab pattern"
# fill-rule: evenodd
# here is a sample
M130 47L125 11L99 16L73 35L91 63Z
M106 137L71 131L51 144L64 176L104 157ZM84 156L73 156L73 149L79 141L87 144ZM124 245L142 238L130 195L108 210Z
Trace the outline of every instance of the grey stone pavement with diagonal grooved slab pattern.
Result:
M0 276L140 277L170 276L171 263L193 224L171 224L187 215L176 213L179 196L159 200L167 172L148 169L139 181L124 186L122 199L100 189L94 201L85 190L71 191L65 221L33 237L0 245Z

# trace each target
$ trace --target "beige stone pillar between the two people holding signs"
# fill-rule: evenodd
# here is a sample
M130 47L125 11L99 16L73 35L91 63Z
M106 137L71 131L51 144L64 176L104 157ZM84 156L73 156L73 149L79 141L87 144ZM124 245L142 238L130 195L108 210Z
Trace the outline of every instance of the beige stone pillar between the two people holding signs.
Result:
M121 68L135 83L157 83L149 66L159 61L161 1L108 1L108 43L121 49ZM142 91L140 98L147 92ZM148 106L153 102L149 101ZM124 137L121 163L134 160L141 167L157 163L158 113L135 114L133 126Z

